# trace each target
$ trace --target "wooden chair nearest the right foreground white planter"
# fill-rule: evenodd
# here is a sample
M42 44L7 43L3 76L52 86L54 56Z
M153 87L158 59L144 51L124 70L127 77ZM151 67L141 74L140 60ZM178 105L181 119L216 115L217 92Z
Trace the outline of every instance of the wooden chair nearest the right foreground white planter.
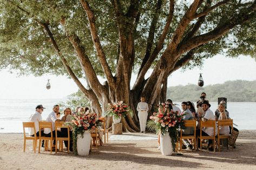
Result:
M193 127L194 134L193 135L182 135L182 130L180 131L180 151L182 152L182 139L194 139L194 149L196 151L196 120L184 120L185 127Z

